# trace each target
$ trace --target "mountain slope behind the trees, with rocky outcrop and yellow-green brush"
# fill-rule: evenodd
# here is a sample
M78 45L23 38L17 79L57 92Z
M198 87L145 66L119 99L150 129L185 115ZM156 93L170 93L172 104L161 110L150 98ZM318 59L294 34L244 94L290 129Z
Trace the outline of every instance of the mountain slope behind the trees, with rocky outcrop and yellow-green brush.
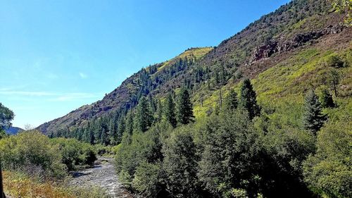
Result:
M351 59L352 29L341 23L343 18L325 0L291 1L218 47L187 49L169 61L142 68L100 101L38 129L51 134L82 128L111 113L125 114L142 96L163 99L171 89L177 91L181 86L191 90L194 113L201 118L215 106L220 89L238 87L244 77L253 80L260 103L291 96L300 103L298 95L319 87L318 81L324 80L318 74L327 73L327 68L317 64L319 61L334 53ZM340 94L347 97L351 94L351 70L344 68L341 73L346 78L339 85Z

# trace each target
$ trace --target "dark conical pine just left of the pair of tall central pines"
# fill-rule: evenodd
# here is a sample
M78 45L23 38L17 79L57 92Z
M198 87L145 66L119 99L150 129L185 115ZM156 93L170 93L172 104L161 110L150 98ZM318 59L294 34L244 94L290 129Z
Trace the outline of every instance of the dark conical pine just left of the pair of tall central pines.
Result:
M151 109L146 97L142 97L139 100L135 119L137 129L141 130L142 132L146 132L146 130L148 130L153 123L153 114L151 113Z

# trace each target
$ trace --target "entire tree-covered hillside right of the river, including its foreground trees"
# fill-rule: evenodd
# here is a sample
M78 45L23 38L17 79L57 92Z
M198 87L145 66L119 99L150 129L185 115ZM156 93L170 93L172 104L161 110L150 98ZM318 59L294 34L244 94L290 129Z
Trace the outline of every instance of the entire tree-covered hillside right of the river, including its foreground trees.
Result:
M39 126L116 146L146 197L352 197L352 29L296 0Z

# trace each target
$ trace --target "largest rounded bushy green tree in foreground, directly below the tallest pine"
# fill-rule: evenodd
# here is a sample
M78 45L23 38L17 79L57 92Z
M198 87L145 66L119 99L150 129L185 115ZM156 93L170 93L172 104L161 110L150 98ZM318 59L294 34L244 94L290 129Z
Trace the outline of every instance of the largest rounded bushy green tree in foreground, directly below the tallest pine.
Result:
M234 189L244 189L250 196L257 194L260 144L246 112L210 117L203 138L199 179L206 189L221 197Z

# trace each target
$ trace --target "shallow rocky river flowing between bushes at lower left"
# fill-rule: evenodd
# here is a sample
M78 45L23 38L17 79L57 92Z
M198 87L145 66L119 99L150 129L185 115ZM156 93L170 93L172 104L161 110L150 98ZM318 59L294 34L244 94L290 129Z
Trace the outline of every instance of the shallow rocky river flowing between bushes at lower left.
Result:
M102 187L109 197L132 198L122 184L118 181L113 165L113 159L99 157L94 164L94 168L87 168L82 171L72 173L73 178L70 185L79 187Z

